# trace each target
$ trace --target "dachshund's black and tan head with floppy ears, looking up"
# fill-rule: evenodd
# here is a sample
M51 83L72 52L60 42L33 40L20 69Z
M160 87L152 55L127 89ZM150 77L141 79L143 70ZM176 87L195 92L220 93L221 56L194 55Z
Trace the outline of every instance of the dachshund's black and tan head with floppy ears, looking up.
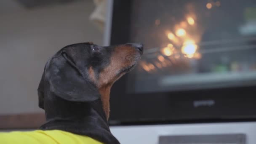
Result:
M135 43L107 47L77 43L62 48L45 65L38 87L39 107L44 109L44 97L51 94L67 101L101 99L108 118L112 84L133 69L142 53L143 45Z

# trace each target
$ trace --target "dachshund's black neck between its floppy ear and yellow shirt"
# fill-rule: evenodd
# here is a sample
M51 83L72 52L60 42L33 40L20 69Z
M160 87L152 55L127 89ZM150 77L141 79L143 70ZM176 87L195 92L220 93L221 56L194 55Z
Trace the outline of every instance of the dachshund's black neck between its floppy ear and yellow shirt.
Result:
M110 88L102 90L104 93L109 91ZM101 99L109 99L109 95L106 94ZM68 131L89 136L104 144L119 144L109 130L105 110L102 109L104 100L101 99L92 102L72 102L51 96L51 99L44 101L47 121L40 129ZM109 105L106 104L104 107L108 108Z

